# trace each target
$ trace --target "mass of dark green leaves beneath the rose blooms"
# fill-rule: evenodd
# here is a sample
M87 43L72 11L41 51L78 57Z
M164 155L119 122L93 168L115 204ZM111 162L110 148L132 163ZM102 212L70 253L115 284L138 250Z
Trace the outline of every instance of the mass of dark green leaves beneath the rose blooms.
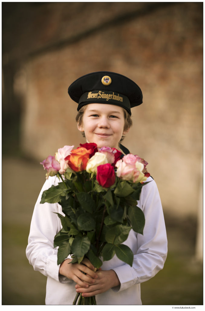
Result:
M143 234L145 218L136 200L146 183L116 179L111 188L103 188L93 174L71 169L65 177L41 197L41 203L59 203L64 213L56 213L62 224L54 239L58 265L70 254L72 263L86 257L96 268L102 266L100 257L107 261L114 255L132 266L133 252L122 243L131 229Z

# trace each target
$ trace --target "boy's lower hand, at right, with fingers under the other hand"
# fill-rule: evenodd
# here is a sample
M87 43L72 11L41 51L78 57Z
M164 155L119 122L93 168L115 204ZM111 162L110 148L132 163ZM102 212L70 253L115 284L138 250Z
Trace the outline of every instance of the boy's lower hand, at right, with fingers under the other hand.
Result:
M83 293L83 297L91 297L102 294L111 287L120 285L120 281L114 270L97 271L96 274L98 275L98 278L95 279L93 284L90 284L88 287L76 284L76 292Z

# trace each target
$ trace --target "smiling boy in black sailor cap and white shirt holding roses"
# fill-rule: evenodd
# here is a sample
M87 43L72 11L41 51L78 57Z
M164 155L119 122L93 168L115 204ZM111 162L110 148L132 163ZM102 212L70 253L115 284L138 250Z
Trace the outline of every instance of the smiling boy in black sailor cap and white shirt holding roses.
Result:
M77 127L86 142L98 148L109 146L129 151L120 144L132 124L131 107L142 104L142 91L127 77L113 72L93 72L74 81L68 88L70 97L78 103ZM120 145L119 145L120 144ZM46 304L72 304L76 292L84 297L96 296L97 304L142 304L140 283L149 280L163 268L167 256L167 238L159 193L154 180L142 188L137 206L145 215L144 234L130 231L124 244L134 253L133 266L116 256L103 262L94 272L88 259L80 264L57 266L57 250L53 248L60 220L52 213L62 213L58 204L40 206L42 191L57 183L49 177L37 200L28 239L27 257L34 270L47 278ZM98 295L100 294L100 295Z

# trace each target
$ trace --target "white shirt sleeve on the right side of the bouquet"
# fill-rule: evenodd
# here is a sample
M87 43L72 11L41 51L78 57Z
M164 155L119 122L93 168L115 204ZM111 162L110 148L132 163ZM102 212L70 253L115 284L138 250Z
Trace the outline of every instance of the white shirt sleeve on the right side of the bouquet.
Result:
M142 187L137 204L145 215L143 235L137 234L137 252L134 254L133 266L124 264L113 269L121 284L120 287L113 288L115 291L125 290L132 285L145 282L164 267L167 257L164 215L157 185L153 179L149 180L150 183Z

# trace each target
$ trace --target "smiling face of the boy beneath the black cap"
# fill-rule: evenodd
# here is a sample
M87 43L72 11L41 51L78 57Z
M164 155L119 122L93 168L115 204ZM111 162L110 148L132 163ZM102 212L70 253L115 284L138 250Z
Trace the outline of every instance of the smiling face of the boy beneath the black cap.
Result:
M124 131L124 111L120 106L110 104L87 104L83 114L83 124L79 131L85 132L87 142L118 148Z

